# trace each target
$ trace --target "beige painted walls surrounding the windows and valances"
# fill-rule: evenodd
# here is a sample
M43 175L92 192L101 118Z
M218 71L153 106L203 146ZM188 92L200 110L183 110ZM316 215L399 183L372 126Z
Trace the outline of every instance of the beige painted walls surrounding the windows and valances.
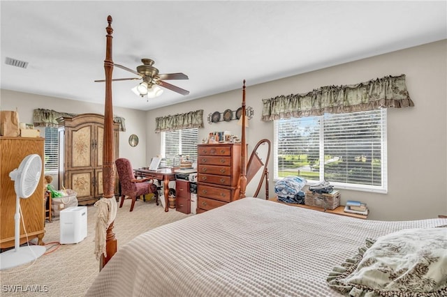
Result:
M254 108L254 119L247 128L249 153L258 140L273 139L273 124L260 121L263 98L305 93L319 86L356 84L404 73L416 106L388 109L388 193L342 190L342 203L348 199L365 201L372 220L412 220L447 214L446 65L447 40L442 40L265 84L253 86L248 81L247 106ZM238 90L149 112L115 107L114 113L126 119L127 128L126 132L120 132L120 156L130 158L134 167L147 165L152 156L160 153L160 135L154 132L155 117L196 109L204 110L205 128L200 129L199 140L212 131L230 130L240 135L237 121L210 124L207 123L207 116L212 112L240 107L243 79L240 77L241 88ZM1 90L1 109L15 107L19 110L20 121L27 122L32 121L32 109L35 108L103 114L102 105ZM127 143L131 134L140 137L140 144L135 148ZM272 159L269 164L272 196Z

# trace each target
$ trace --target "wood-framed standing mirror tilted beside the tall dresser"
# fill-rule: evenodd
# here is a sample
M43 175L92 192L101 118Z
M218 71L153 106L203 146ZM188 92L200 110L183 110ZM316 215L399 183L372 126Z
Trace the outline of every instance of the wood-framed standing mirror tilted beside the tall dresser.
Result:
M268 199L268 159L270 140L261 139L253 149L247 162L247 197L258 197L265 182L265 199Z

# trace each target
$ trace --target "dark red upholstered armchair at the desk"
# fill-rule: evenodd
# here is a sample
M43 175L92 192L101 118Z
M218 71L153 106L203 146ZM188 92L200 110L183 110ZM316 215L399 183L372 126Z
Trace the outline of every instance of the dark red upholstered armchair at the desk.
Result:
M123 206L124 199L132 199L131 211L133 211L136 198L142 195L143 200L146 201L146 195L149 193L154 193L156 205L159 205L159 192L153 178L135 178L131 162L126 158L117 159L115 164L117 165L119 184L121 185L119 207ZM149 183L148 181L152 182Z

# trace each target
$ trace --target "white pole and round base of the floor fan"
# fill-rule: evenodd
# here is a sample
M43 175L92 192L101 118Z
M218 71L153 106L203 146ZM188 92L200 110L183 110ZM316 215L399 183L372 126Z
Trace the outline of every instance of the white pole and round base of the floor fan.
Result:
M14 250L7 250L0 254L0 270L17 267L27 264L41 257L46 252L46 248L41 245L20 246L20 197L15 201L15 236Z

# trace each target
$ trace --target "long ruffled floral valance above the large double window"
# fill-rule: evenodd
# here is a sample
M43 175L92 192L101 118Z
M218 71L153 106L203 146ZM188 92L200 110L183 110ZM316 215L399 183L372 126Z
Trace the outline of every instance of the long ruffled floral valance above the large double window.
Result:
M379 107L411 107L405 75L386 76L360 84L321 86L309 93L263 99L263 121L325 113L360 112Z

